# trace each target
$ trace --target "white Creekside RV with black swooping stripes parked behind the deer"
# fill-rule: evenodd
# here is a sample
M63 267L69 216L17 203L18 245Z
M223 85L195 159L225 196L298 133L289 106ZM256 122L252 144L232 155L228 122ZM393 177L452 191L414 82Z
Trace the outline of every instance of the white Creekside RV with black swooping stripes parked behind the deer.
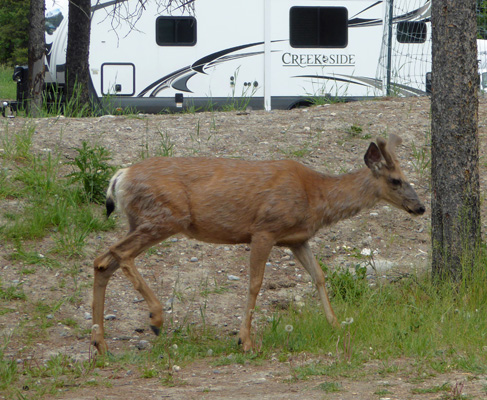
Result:
M92 0L91 90L145 112L425 94L430 1L397 3L195 0L191 11L163 12L150 1L139 14L138 0ZM132 17L114 18L116 4ZM68 0L46 6L46 81L63 85Z

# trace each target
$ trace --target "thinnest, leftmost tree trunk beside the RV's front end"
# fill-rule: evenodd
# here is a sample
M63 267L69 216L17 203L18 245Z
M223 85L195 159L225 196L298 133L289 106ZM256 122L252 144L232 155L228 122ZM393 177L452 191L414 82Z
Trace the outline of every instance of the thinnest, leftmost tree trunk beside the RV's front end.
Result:
M37 116L42 108L45 72L44 0L31 0L29 12L29 100L27 112Z

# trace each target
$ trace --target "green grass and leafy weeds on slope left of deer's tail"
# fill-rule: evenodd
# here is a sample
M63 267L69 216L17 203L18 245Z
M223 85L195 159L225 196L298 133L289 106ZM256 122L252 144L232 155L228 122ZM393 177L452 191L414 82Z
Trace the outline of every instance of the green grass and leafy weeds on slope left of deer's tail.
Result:
M108 153L99 146L93 149L84 143L83 148L77 149L82 160L79 163L63 162L61 154L56 152L35 154L31 140L34 130L35 126L27 123L20 131L12 133L6 124L0 133L3 144L0 199L18 199L15 208L1 212L5 223L0 227L0 237L17 244L20 249L22 242L50 235L55 243L52 253L80 255L91 232L113 226L113 222L103 218L89 202L99 201L99 193L108 184L108 175L113 170L107 164ZM74 172L63 176L63 165L72 165ZM84 169L76 172L75 167ZM13 256L22 256L22 253L19 251Z

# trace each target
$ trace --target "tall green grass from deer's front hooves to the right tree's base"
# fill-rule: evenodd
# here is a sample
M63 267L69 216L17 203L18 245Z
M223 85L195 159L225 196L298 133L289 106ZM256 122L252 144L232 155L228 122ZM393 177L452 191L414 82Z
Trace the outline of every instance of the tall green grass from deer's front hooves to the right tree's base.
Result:
M411 275L365 291L360 286L359 301L334 296L335 312L343 320L337 331L326 325L317 299L309 299L306 307L274 316L262 333L263 348L331 353L337 362L356 365L369 359L410 357L437 372L450 365L486 373L486 266L484 252L469 280L459 284L435 284L428 275ZM347 336L350 354L345 350Z

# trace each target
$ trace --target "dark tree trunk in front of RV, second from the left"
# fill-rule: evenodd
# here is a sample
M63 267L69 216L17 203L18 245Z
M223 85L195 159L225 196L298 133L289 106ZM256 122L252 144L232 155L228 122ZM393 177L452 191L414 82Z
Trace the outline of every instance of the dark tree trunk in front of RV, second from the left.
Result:
M70 0L66 52L66 102L77 110L89 104L91 0Z

